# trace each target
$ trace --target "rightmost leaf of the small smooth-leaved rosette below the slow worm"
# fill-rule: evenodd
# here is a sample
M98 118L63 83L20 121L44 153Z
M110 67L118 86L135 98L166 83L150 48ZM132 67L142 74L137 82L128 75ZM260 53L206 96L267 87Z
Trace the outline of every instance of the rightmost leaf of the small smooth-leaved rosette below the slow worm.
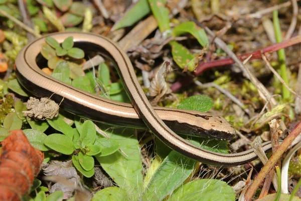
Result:
M94 145L98 145L101 148L101 153L97 156L107 156L113 154L120 148L120 142L112 138L96 139Z

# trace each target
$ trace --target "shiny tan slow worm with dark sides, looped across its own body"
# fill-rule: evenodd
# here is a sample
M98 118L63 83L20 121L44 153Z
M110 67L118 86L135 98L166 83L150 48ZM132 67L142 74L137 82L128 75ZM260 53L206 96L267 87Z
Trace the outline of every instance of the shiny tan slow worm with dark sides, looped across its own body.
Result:
M172 149L206 164L236 166L257 158L253 149L232 154L215 153L194 146L178 136L175 132L228 140L235 135L235 130L224 118L209 113L153 108L137 81L129 58L109 39L78 32L55 33L51 36L59 43L73 36L76 46L85 52L99 52L107 55L116 64L132 106L90 94L46 75L36 62L41 58L40 51L42 44L45 43L45 37L27 45L20 51L16 60L16 74L19 82L34 95L49 97L53 94L52 99L56 102L60 102L64 97L61 108L94 121L134 128L145 128L146 125ZM263 144L264 151L270 148L269 142Z

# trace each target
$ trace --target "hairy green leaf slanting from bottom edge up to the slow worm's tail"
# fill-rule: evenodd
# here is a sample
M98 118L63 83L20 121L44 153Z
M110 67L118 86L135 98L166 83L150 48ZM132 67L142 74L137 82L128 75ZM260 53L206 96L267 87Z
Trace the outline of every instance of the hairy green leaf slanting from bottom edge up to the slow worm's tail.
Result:
M195 165L195 160L172 151L147 183L141 200L162 200L172 194L194 171Z

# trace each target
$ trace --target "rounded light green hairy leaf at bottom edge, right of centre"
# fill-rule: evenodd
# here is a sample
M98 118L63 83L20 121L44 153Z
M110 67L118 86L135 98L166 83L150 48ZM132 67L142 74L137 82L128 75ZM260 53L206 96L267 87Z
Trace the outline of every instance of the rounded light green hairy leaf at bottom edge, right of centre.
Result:
M199 179L182 185L170 196L168 201L199 200L200 197L202 197L202 201L234 201L235 192L225 181Z

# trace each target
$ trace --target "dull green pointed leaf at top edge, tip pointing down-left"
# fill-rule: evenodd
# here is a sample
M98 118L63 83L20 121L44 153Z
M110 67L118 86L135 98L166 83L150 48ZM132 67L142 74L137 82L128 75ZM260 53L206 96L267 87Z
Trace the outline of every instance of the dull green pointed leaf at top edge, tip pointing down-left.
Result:
M112 31L123 27L132 26L134 23L146 16L149 12L150 8L147 0L138 1L124 13L119 21L114 24Z

